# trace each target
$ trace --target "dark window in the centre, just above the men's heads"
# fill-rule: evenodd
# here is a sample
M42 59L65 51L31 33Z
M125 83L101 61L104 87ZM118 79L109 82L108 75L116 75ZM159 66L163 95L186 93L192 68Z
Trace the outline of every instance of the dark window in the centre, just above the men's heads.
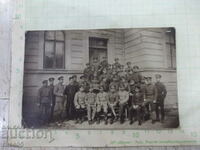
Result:
M89 38L89 59L90 63L93 63L94 59L97 59L98 63L107 59L107 43L108 39L104 38Z

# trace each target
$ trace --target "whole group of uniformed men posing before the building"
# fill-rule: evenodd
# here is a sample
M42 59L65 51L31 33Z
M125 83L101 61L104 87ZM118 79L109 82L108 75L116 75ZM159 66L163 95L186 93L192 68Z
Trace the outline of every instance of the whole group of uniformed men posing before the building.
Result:
M127 62L126 67L115 62L110 65L104 59L98 63L87 63L77 81L77 76L69 77L69 84L64 86L64 77L58 78L58 84L53 85L54 78L43 81L39 89L39 102L42 106L44 122L75 120L82 123L87 118L89 124L105 124L129 118L130 124L138 121L141 125L148 116L152 123L164 121L164 99L167 91L160 82L161 75L156 74L156 83L152 77L144 77L138 66ZM160 118L161 115L161 118Z

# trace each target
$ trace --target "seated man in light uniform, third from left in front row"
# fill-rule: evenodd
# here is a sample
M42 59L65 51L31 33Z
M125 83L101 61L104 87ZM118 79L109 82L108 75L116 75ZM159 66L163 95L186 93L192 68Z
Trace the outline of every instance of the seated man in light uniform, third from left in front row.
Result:
M100 123L100 113L103 111L105 124L107 124L107 113L108 113L108 93L100 87L100 92L97 94L97 124Z

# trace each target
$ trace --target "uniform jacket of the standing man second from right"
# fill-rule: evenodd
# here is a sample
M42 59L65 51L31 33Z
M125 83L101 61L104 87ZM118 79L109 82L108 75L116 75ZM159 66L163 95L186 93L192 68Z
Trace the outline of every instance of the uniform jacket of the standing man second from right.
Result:
M145 99L156 100L156 98L157 98L157 89L156 89L155 85L153 85L153 84L147 84L146 85L144 98Z

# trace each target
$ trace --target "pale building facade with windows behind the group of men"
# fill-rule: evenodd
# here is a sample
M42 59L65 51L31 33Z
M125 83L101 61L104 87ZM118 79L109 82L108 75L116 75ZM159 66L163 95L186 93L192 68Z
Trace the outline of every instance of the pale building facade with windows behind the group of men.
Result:
M166 107L177 105L175 31L172 28L31 31L26 33L23 102L33 108L41 81L81 75L93 57L138 65L144 76L160 73L168 94ZM57 81L55 81L56 83ZM34 109L33 109L34 110Z

